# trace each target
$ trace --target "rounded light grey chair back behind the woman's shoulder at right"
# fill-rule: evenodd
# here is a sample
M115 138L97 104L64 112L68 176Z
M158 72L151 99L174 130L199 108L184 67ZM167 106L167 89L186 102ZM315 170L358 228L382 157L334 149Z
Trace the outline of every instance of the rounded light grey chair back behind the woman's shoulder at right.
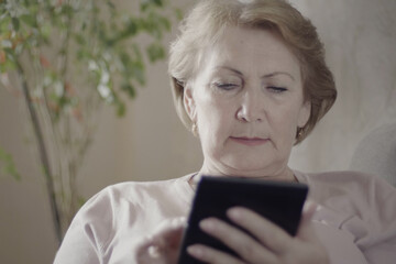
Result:
M381 125L364 136L350 169L378 175L396 187L396 123Z

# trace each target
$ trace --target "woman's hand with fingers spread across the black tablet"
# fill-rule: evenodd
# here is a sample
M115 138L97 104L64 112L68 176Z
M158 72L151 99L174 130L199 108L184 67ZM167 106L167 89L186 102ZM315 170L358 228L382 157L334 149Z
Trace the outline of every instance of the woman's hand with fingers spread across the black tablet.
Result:
M290 237L276 224L249 209L232 208L228 211L228 217L249 230L257 240L215 218L202 220L200 228L234 250L241 258L201 244L191 245L187 251L202 262L216 264L327 264L329 260L326 249L310 224L315 209L315 205L305 207L297 235Z

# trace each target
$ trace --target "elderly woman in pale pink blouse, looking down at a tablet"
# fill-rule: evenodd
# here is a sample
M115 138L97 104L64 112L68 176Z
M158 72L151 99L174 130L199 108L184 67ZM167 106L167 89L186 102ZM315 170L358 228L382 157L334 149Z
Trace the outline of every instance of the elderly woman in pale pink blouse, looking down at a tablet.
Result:
M195 244L207 263L394 263L396 191L352 172L304 174L287 166L337 91L316 29L283 0L200 0L170 51L177 112L200 140L198 173L111 186L75 217L55 263L176 263L200 175L305 183L296 237L245 208L201 229L240 257ZM308 202L307 202L308 204ZM210 205L208 205L210 206Z

